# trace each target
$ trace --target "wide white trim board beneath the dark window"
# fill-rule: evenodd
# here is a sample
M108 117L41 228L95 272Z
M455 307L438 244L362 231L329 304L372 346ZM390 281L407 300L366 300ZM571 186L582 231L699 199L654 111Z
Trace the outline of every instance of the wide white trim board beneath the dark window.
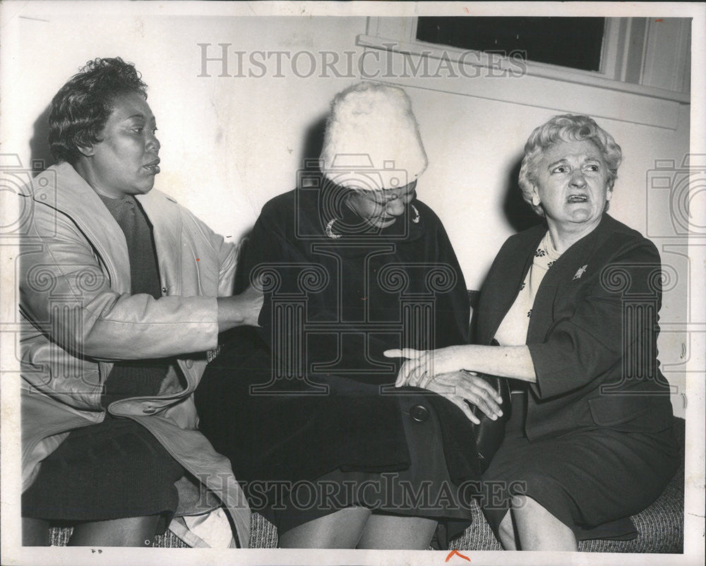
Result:
M510 57L357 36L361 78L676 130L690 96ZM426 66L425 66L426 65ZM421 71L420 71L421 70Z

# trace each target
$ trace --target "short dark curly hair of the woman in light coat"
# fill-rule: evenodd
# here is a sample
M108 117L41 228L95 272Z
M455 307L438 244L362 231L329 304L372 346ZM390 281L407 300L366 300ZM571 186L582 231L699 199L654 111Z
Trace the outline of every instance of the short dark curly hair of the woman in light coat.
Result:
M147 85L132 63L120 57L88 61L56 93L49 111L49 148L57 161L78 161L79 146L102 141L116 97L139 92L147 98Z

